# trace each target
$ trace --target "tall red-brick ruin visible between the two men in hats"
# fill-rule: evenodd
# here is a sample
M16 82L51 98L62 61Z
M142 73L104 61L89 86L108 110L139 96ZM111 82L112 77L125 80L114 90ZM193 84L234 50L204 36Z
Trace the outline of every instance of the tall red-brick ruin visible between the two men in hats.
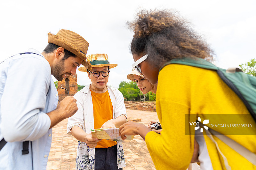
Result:
M63 100L66 96L68 96L68 92L61 87L67 89L69 91L69 96L74 96L74 94L77 92L77 75L73 76L67 76L67 78L63 78L62 81L58 81L58 94L59 94L59 100Z

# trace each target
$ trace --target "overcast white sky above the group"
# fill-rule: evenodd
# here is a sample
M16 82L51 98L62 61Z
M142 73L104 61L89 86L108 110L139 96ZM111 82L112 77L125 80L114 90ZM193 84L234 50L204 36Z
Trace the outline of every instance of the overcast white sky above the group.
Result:
M0 2L0 62L28 48L42 52L48 32L68 29L89 42L87 55L106 53L110 63L118 64L110 69L108 81L118 88L120 81L128 81L134 62L129 49L133 33L126 22L139 7L179 11L204 35L219 67L238 67L256 58L255 0L8 0ZM90 83L86 72L77 70L77 75L77 84Z

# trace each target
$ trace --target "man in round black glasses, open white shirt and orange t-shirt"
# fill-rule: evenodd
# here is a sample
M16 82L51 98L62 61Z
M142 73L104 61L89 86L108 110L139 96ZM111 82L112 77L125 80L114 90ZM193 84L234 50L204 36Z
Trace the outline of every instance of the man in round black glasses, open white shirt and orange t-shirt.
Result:
M78 111L68 118L68 134L78 140L76 169L116 170L125 166L122 142L92 138L91 129L119 128L127 121L122 93L107 85L109 69L117 64L108 62L107 54L86 58L92 69L87 71L92 83L74 95Z

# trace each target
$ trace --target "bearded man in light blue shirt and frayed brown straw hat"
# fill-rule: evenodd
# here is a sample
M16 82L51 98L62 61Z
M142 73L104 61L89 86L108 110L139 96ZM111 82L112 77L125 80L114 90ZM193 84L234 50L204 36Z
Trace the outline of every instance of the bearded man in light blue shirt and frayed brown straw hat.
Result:
M72 96L57 107L51 74L61 81L81 63L90 67L89 44L69 30L48 33L48 43L42 53L31 48L0 64L0 169L46 169L52 127L77 111Z

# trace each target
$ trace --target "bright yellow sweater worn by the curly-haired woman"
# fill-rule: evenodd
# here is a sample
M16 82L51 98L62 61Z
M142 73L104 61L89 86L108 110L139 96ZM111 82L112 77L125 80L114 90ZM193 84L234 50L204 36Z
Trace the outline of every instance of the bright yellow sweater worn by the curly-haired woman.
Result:
M148 132L145 141L158 170L187 169L194 150L195 130L191 128L191 135L185 135L185 123L188 125L190 121L195 122L196 117L201 117L202 121L209 119L209 114L250 114L244 103L212 70L180 64L167 65L159 72L156 94L156 111L163 130L161 135L153 131ZM191 114L189 122L185 122L185 114ZM223 123L228 122L227 116L221 119ZM217 122L212 117L210 121L211 124ZM254 128L250 130L256 131L252 118L241 119L241 122L252 124ZM221 133L220 128L212 129ZM227 136L256 153L256 135ZM213 169L225 169L211 139L206 135L204 139ZM228 159L232 170L256 170L256 166L244 157L218 138L214 139Z

